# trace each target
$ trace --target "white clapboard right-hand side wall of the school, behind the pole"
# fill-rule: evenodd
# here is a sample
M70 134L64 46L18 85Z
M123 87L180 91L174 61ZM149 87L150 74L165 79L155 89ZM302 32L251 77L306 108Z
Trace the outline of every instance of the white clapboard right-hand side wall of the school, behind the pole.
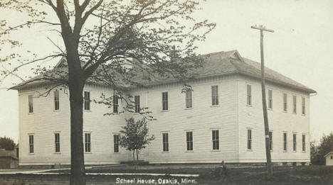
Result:
M247 106L246 85L252 86L252 105ZM265 130L263 104L259 80L248 77L238 79L238 140L240 162L265 162ZM310 162L310 97L267 83L266 91L273 90L273 109L268 110L268 123L273 131L273 162ZM283 111L283 93L287 93L287 112ZM268 98L268 93L266 93ZM292 95L297 96L297 113L292 113ZM305 98L305 116L302 115L302 99ZM247 150L247 130L252 129L253 149ZM287 152L283 151L283 133L287 133ZM297 134L297 151L292 151L292 134ZM302 152L302 134L306 135L306 151Z

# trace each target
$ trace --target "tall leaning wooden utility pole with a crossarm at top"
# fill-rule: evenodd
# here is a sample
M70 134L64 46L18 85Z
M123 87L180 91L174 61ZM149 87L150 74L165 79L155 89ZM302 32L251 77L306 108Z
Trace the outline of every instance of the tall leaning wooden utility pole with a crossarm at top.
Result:
M251 26L253 29L260 30L260 57L261 57L261 92L263 94L263 116L265 124L265 146L266 146L266 159L267 159L267 174L268 178L273 175L272 158L270 157L270 128L268 125L267 103L266 103L266 87L265 87L265 63L263 57L263 31L274 32L265 26Z

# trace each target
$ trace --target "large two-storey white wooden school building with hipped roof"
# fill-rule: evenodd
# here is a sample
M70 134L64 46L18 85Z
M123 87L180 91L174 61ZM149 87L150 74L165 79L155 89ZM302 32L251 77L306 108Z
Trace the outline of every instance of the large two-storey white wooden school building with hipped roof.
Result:
M150 82L129 94L148 107L155 140L140 153L150 163L265 162L260 63L236 50L206 55L193 91L181 93L179 82ZM270 148L273 162L310 162L310 94L316 91L266 68ZM70 164L70 107L64 91L47 97L43 84L16 86L19 101L19 164ZM112 89L85 86L85 99L100 99ZM118 101L117 111L122 111ZM83 131L85 164L117 164L132 160L118 144L125 118L138 113L110 112L85 101Z

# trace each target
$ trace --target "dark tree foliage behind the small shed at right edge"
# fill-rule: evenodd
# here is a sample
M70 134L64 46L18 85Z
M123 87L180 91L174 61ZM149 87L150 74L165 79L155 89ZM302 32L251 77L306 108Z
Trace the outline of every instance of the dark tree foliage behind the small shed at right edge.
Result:
M311 164L325 164L324 155L333 151L333 133L323 135L318 145L310 144Z

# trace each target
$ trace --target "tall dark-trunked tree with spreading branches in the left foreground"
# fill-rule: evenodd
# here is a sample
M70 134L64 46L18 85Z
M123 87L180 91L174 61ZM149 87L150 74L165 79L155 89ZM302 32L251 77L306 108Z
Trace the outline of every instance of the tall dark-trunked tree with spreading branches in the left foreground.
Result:
M63 45L58 52L34 60L18 59L10 53L1 59L14 65L1 72L4 78L14 75L24 85L37 80L47 80L55 86L68 86L70 92L70 184L85 184L83 155L83 88L90 80L112 84L139 85L132 79L150 76L157 78L187 79L188 70L199 67L194 42L204 40L214 27L207 20L196 21L191 16L199 7L195 0L4 0L1 9L22 13L27 21L13 26L11 19L0 22L0 44L13 47L21 43L6 36L21 28L40 24L51 26L60 33ZM56 16L56 22L55 17ZM201 29L203 28L203 29ZM18 69L41 63L53 57L64 57L61 70L48 71L37 67L42 74L26 81ZM177 60L174 60L177 58ZM130 60L135 59L135 60ZM141 72L128 72L124 66ZM116 75L117 73L117 75ZM107 80L100 78L107 76ZM126 74L126 75L124 75ZM119 77L120 76L120 77ZM49 92L48 91L48 92ZM48 94L48 93L47 93ZM46 95L47 95L46 94Z

